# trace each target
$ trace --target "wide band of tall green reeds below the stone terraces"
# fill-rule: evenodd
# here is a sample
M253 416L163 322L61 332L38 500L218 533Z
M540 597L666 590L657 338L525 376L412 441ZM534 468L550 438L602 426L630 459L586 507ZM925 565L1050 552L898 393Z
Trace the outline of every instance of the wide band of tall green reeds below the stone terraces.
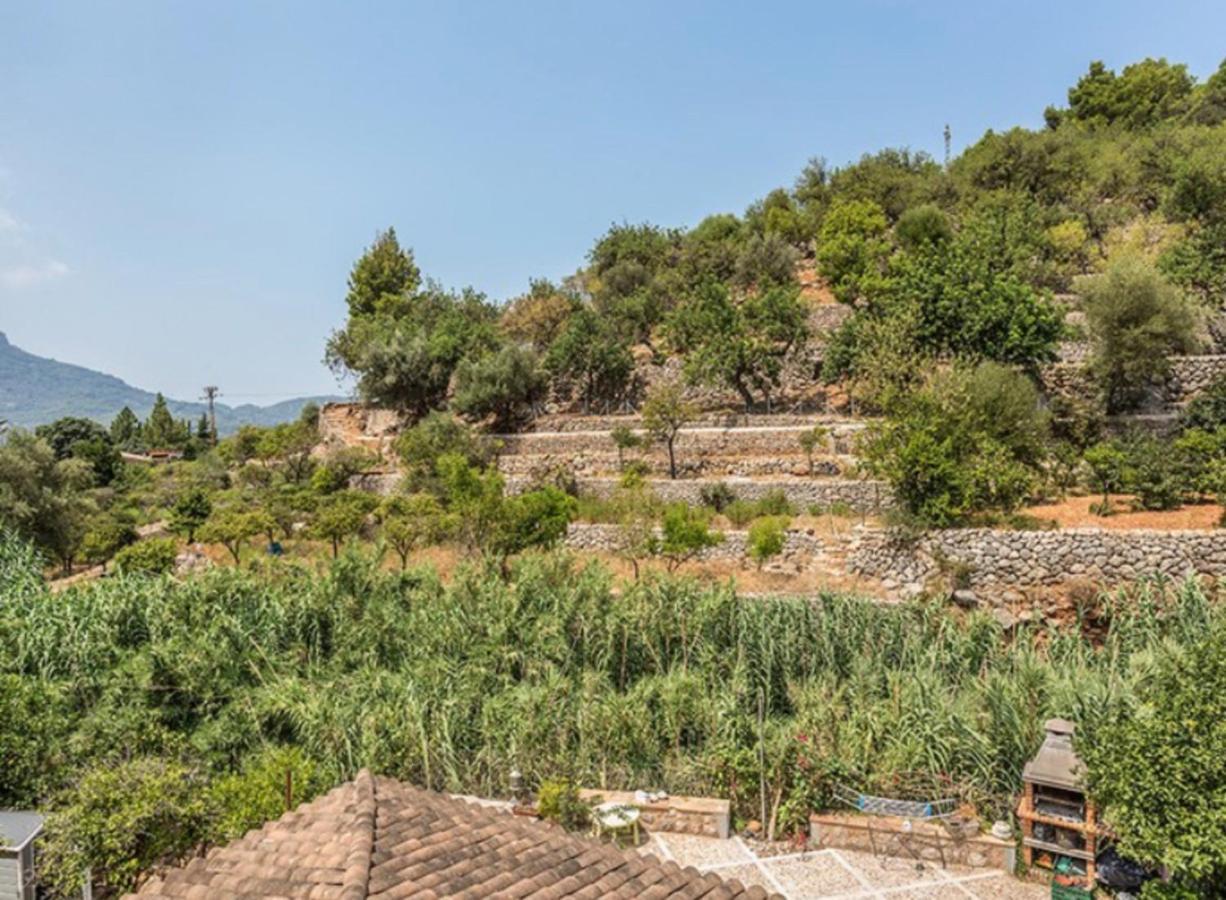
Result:
M1009 640L988 616L918 602L748 601L667 578L619 591L564 554L520 560L509 582L474 564L443 585L351 554L322 574L226 569L61 593L9 557L0 674L69 698L65 779L132 752L223 772L284 743L336 780L365 765L503 795L517 768L721 793L742 814L758 813L766 779L780 828L836 780L951 791L999 814L1045 719L1092 734L1127 715L1152 661L1221 616L1194 584L1150 582L1101 601L1098 640Z

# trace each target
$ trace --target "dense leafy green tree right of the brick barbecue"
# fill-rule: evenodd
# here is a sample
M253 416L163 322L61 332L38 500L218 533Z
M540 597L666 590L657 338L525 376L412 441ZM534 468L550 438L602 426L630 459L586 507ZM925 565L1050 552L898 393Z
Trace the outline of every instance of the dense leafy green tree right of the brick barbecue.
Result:
M1226 628L1159 654L1135 707L1078 741L1119 852L1197 896L1226 883Z

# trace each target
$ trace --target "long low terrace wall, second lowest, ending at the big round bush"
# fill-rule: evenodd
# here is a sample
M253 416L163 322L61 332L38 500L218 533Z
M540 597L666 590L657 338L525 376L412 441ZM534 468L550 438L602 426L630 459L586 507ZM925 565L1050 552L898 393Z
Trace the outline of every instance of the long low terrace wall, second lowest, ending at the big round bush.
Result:
M617 478L579 478L581 493L596 497L608 497L618 486ZM532 487L532 479L509 477L506 489L520 493ZM677 481L653 481L651 490L664 503L688 503L691 506L702 504L702 489L715 484L727 484L732 493L742 500L758 500L779 490L798 513L810 506L829 509L835 504L846 505L853 513L880 513L891 506L889 487L873 481L845 481L839 478L805 478L788 481L737 481L718 478L684 478Z

